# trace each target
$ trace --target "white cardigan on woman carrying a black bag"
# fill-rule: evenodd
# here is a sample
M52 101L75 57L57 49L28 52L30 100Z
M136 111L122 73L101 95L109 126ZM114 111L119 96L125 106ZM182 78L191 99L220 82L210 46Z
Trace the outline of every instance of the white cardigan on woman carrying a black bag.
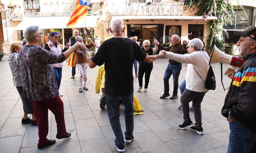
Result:
M168 57L172 60L176 60L180 63L187 63L187 73L186 73L186 89L196 92L206 92L208 91L205 88L204 82L207 77L209 70L209 56L205 51L194 51L191 54L174 54L173 52L166 52L165 57ZM197 74L200 74L200 76Z

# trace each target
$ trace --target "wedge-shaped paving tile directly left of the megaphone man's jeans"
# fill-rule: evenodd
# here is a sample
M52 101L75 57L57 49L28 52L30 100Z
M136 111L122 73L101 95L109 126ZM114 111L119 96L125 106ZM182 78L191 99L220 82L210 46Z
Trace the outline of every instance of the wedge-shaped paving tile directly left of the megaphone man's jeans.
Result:
M208 134L210 137L214 138L214 140L217 140L220 142L222 145L228 147L228 142L229 142L229 133L226 131L221 131L221 132L215 132Z

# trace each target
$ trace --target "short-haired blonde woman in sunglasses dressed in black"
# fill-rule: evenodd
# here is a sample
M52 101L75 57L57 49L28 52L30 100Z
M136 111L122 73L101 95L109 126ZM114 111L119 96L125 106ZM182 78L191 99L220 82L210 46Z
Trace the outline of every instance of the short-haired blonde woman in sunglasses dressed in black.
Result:
M155 45L154 48L149 47L150 46L150 41L149 40L144 40L143 41L143 46L144 46L144 48L142 48L142 49L144 50L144 52L147 55L152 55L153 53L157 52L157 50L158 50L157 45ZM151 62L151 63L146 63L144 61L140 62L140 64L139 64L139 73L138 73L138 76L139 76L138 92L140 92L140 90L142 89L142 79L143 79L144 73L145 73L144 92L147 92L147 86L148 86L148 83L149 83L149 78L150 78L150 74L151 74L152 70L153 70L153 62Z

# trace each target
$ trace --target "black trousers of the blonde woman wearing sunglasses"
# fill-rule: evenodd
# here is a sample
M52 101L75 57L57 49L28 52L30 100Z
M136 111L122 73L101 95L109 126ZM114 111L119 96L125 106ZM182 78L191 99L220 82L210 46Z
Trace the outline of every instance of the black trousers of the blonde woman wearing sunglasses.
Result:
M153 67L139 67L139 74L138 74L138 80L139 80L139 86L142 86L142 79L145 73L145 86L144 88L147 88L149 83L149 78L151 71L153 70Z

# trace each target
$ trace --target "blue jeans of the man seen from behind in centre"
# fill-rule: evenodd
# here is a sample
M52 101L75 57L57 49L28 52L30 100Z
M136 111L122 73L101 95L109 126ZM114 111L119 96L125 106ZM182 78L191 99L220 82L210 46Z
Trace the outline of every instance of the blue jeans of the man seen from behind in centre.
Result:
M108 109L109 122L112 130L116 136L116 145L123 145L123 132L119 120L119 106L120 99L122 100L124 106L124 119L125 119L125 132L126 138L133 136L133 93L126 96L110 96L105 94L106 104Z

